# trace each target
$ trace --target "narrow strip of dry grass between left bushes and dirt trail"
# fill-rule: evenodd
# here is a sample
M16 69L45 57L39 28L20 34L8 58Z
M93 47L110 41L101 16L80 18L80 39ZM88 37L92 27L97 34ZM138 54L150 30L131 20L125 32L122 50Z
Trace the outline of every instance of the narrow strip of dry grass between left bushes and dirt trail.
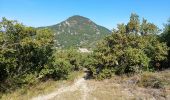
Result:
M83 74L83 72L74 72L69 75L68 80L48 80L45 82L40 82L37 85L30 86L27 88L21 88L12 93L7 93L2 95L2 100L29 100L32 97L48 94L49 92L55 91L57 88L62 86L70 85L74 82L78 76Z

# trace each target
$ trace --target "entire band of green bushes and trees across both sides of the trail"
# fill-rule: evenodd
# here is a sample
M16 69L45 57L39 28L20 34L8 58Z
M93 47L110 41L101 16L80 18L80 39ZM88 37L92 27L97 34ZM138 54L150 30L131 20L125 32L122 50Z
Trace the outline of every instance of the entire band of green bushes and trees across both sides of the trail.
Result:
M54 33L48 29L26 27L3 18L0 22L0 91L48 79L67 79L71 72L83 68L96 79L167 68L170 24L165 26L163 34L158 33L156 25L146 19L140 22L139 16L132 14L127 24L118 24L91 53L81 53L76 49L56 49Z

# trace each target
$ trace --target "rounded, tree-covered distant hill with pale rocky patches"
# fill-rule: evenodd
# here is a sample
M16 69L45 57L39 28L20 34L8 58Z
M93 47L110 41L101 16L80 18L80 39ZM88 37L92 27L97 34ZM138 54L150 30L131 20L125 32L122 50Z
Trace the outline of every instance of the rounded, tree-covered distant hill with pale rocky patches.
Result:
M61 48L93 47L96 41L111 33L109 29L79 15L72 16L59 24L40 28L51 29L55 33L56 46Z

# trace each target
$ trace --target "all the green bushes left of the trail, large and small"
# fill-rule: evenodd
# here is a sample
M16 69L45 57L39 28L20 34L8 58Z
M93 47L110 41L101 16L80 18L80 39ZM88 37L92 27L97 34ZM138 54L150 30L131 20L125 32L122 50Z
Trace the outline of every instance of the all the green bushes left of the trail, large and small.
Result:
M48 29L26 27L5 18L0 22L0 91L10 91L40 80L67 79L82 69L75 50L55 51Z

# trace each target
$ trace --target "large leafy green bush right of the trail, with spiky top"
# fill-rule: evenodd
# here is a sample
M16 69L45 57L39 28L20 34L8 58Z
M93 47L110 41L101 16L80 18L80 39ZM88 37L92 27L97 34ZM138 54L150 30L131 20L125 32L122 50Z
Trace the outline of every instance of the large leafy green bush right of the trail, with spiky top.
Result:
M166 60L168 47L159 41L152 27L143 35L139 22L138 16L132 14L127 25L119 24L118 30L98 44L90 65L94 77L104 79L115 73L140 73L163 67L161 62Z

